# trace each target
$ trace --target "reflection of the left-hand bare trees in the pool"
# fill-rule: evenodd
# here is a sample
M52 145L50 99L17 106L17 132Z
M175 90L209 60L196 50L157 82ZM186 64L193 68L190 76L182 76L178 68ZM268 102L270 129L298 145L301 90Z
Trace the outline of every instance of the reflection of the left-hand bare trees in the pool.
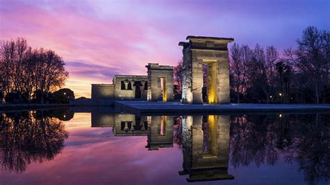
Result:
M63 114L64 113L64 114ZM1 167L24 172L31 162L50 161L61 152L68 138L63 122L68 111L25 111L0 113ZM72 118L71 117L71 118Z

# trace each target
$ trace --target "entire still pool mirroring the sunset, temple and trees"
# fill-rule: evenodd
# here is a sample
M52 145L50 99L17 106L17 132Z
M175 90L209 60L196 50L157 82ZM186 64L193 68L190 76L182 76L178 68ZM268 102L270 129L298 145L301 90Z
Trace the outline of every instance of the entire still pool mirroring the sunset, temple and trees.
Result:
M0 184L329 184L330 114L0 113Z

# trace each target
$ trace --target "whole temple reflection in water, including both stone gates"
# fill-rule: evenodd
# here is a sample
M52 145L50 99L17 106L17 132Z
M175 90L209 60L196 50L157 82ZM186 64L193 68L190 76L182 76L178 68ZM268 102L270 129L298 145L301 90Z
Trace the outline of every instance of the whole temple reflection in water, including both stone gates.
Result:
M146 148L173 147L174 116L92 113L92 127L112 127L115 136L148 136ZM187 182L234 179L228 175L230 115L187 115L182 122L183 170Z

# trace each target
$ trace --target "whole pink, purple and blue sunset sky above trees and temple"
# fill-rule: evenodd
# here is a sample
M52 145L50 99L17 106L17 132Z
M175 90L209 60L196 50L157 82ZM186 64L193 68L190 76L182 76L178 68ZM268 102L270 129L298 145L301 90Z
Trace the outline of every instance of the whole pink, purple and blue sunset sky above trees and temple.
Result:
M306 26L330 29L329 0L0 0L0 40L23 37L67 63L66 88L91 97L91 83L175 65L187 35L234 38L254 47L296 47Z

